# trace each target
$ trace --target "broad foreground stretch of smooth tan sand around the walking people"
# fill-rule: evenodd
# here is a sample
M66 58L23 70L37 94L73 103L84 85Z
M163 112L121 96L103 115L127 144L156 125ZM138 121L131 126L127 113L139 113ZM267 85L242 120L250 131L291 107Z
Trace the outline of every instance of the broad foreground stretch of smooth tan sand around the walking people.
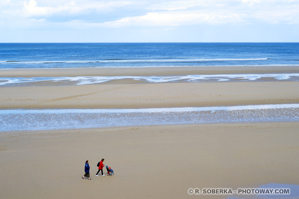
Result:
M0 198L188 198L188 188L299 184L298 133L298 122L2 132ZM115 177L95 176L102 158ZM81 178L85 160L92 180Z

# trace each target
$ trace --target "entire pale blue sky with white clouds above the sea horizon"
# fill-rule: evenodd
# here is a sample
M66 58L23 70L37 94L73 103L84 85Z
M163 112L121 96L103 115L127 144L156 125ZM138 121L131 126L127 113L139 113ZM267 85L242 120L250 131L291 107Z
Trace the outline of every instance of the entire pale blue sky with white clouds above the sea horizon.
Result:
M0 0L0 42L299 42L299 0Z

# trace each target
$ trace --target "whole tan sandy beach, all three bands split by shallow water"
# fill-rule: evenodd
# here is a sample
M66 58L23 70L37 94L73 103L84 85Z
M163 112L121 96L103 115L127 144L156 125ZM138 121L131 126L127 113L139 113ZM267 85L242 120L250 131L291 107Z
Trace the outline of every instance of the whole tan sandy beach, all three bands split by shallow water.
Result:
M299 67L0 70L1 77L298 73ZM0 86L0 109L136 109L299 103L296 81ZM20 100L19 100L20 99ZM277 100L279 99L279 100ZM299 184L299 122L0 133L0 198L187 198L189 188ZM95 176L102 158L116 176ZM89 160L92 180L82 179ZM104 169L105 171L105 169ZM105 171L106 172L106 171ZM232 195L200 195L223 198ZM249 198L242 195L234 197ZM257 196L250 196L259 198Z

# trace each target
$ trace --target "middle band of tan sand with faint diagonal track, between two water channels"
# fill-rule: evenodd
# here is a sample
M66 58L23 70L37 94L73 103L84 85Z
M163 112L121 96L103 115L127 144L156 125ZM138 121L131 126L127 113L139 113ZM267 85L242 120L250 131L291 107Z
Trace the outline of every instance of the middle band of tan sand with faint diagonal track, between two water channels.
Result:
M299 103L298 82L0 87L0 109L135 109Z

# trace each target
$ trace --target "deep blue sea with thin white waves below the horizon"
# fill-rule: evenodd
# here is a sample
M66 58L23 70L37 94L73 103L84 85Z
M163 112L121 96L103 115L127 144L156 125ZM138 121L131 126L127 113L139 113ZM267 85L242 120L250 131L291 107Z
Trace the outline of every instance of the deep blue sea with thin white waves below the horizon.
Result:
M299 43L1 43L0 68L299 65Z

